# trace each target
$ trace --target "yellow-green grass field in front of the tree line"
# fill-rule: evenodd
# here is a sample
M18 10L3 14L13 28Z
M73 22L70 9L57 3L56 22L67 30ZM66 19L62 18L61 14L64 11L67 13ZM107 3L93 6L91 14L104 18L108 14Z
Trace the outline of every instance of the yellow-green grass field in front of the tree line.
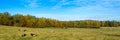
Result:
M23 32L24 29L27 31ZM21 36L24 33L26 37ZM30 33L37 36L32 37ZM62 29L0 26L0 40L120 40L120 27Z

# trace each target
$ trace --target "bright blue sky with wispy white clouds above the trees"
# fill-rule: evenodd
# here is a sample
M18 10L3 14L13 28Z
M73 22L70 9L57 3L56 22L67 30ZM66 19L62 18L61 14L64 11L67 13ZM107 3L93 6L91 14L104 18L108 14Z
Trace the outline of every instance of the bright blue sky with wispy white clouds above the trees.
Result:
M120 20L120 0L0 0L0 12L57 20Z

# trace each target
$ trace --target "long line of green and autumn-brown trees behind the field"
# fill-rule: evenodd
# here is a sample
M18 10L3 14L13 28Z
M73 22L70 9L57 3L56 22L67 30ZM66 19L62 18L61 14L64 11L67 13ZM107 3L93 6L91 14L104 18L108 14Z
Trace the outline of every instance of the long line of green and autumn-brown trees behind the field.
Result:
M77 20L77 21L60 21L50 18L38 18L32 15L15 14L9 12L0 13L0 25L32 27L32 28L97 28L97 27L119 27L120 21L98 21L98 20Z

